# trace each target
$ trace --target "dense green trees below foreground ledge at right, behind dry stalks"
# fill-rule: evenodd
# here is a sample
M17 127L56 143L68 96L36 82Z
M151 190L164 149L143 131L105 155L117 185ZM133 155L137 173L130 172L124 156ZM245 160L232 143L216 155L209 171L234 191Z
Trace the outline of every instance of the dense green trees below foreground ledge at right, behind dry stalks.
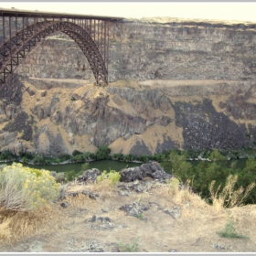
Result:
M191 181L190 186L210 203L217 199L224 200L227 208L232 207L233 202L237 205L255 204L255 159L248 158L245 167L240 169L236 167L236 164L227 165L227 161L222 161L223 158L217 151L213 151L209 157L214 161L200 161L198 165L192 165L187 161L187 156L172 151L171 161L165 165L171 166L172 174L182 183L186 184L188 180ZM244 189L244 187L247 188ZM213 191L217 191L216 194Z

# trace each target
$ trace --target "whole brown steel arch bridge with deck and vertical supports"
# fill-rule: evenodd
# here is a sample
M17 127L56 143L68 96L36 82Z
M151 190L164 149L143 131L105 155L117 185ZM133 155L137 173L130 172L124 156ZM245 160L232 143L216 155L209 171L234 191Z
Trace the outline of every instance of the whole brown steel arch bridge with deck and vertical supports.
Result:
M109 37L113 36L113 22L121 19L0 9L0 90L27 52L56 32L68 35L77 43L97 84L108 84Z

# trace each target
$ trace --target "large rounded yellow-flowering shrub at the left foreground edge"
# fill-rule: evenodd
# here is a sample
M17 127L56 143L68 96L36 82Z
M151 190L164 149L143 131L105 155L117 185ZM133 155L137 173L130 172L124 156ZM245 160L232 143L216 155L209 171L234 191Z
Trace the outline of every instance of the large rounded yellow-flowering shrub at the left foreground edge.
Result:
M59 183L49 171L16 163L0 171L0 208L31 211L48 205L57 197Z

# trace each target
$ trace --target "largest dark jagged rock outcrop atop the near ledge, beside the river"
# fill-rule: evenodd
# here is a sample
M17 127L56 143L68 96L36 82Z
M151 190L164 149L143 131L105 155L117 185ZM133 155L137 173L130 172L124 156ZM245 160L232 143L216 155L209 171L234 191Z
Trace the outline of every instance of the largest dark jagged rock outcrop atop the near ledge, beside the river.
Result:
M172 178L171 175L165 173L164 169L157 162L148 162L141 166L123 169L119 173L121 175L120 181L123 182L144 180L145 177L151 177L159 180Z

